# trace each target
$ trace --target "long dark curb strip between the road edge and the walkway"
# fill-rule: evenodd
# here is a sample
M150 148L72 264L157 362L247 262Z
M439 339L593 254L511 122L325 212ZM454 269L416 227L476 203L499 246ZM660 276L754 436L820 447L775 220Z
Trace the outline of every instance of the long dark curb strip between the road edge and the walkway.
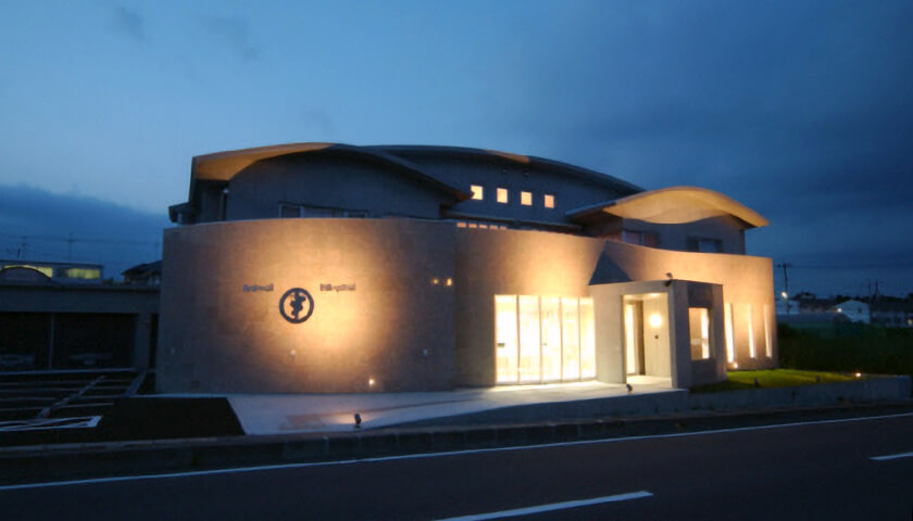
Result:
M0 448L0 483L136 475L260 465L358 460L913 411L913 399L730 414L606 418L530 424L378 429L333 435L232 436Z

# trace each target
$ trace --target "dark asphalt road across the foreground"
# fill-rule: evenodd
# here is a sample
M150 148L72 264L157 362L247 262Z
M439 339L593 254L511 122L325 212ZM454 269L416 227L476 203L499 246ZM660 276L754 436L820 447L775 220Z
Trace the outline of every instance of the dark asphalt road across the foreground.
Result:
M913 415L0 487L9 520L500 519L527 507L554 510L511 519L910 520Z

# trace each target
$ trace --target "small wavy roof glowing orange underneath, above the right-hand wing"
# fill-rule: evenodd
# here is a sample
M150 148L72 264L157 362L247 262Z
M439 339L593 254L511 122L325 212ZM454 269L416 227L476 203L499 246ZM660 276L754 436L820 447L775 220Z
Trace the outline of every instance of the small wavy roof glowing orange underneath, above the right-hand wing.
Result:
M770 224L761 214L736 200L697 187L670 187L635 193L614 201L575 208L565 215L575 219L599 213L662 225L693 223L724 214L741 219L749 228Z

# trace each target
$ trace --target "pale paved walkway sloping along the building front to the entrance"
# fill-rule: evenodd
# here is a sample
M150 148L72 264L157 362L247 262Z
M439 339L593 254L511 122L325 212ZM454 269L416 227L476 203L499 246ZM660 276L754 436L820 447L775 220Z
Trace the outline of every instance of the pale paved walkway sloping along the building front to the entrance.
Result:
M505 407L613 397L628 401L675 391L668 379L634 377L629 381L631 393L624 384L579 382L437 393L235 394L227 398L245 432L257 435L350 432L355 412L361 415L362 429L376 429Z

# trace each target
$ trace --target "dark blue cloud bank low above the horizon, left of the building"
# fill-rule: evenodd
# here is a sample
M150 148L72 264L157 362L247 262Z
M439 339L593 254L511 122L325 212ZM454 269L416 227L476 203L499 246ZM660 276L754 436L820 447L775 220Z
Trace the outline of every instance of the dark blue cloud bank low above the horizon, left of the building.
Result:
M164 214L0 185L0 258L103 264L105 277L161 258ZM14 230L14 231L13 231Z

